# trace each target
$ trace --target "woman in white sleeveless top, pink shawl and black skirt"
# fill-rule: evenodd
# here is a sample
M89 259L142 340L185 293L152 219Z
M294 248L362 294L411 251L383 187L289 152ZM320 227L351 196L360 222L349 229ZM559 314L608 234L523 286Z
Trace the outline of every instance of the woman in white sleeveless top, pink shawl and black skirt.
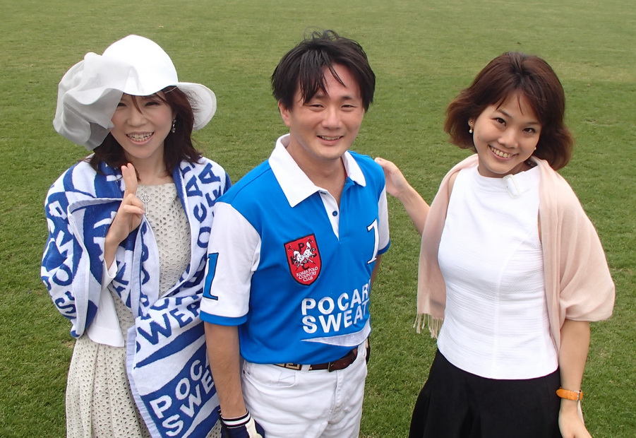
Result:
M589 321L614 286L594 227L555 170L565 95L541 58L493 59L447 109L453 167L431 207L392 162L387 190L422 235L418 329L438 352L410 437L589 437L580 414ZM442 325L443 321L443 325Z

